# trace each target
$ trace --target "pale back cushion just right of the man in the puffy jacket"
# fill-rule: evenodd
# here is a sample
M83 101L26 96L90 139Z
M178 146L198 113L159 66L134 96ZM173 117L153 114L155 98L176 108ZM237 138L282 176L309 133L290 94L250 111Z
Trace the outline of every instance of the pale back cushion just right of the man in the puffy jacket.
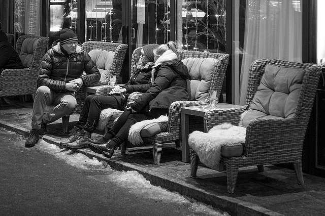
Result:
M110 76L110 69L114 59L114 52L105 50L91 50L89 53L92 61L101 72L100 81L106 80Z

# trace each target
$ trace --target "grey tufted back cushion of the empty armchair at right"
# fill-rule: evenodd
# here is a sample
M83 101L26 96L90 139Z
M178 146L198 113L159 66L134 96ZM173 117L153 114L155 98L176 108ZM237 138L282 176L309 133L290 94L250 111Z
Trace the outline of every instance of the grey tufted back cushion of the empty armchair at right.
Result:
M243 126L247 127L256 118L293 117L304 75L304 69L266 65L252 104L242 116Z

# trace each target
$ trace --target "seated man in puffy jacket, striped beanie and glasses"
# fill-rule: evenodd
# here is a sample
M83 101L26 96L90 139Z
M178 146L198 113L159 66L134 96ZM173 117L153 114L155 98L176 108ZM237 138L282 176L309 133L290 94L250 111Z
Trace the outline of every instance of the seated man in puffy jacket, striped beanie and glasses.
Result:
M83 71L86 75L83 74ZM31 131L25 147L32 147L39 135L46 133L46 124L69 115L77 106L75 92L82 85L99 81L101 74L90 56L78 44L76 34L69 28L61 30L60 39L44 55L37 77L31 117ZM46 112L46 105L55 105Z

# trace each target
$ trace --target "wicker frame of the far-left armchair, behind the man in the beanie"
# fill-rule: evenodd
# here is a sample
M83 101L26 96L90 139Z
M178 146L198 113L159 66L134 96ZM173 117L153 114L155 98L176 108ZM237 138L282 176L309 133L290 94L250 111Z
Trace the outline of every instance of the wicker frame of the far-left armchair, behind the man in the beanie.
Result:
M21 46L26 38L37 38L37 45L32 54L33 60L28 68L6 69L0 77L0 97L32 95L37 90L37 74L41 59L47 51L49 38L35 35L22 35L16 43L16 51L20 54Z

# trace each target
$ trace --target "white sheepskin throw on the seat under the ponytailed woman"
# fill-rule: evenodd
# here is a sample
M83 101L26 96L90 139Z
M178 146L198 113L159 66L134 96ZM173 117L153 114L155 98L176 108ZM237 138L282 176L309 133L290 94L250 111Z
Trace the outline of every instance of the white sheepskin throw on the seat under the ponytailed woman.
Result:
M143 120L135 123L134 125L131 126L131 128L128 131L128 141L135 146L140 146L141 144L143 144L143 140L140 136L140 131L142 130L142 128L144 128L145 126L151 123L164 122L164 121L168 121L168 116L161 115L159 118Z

